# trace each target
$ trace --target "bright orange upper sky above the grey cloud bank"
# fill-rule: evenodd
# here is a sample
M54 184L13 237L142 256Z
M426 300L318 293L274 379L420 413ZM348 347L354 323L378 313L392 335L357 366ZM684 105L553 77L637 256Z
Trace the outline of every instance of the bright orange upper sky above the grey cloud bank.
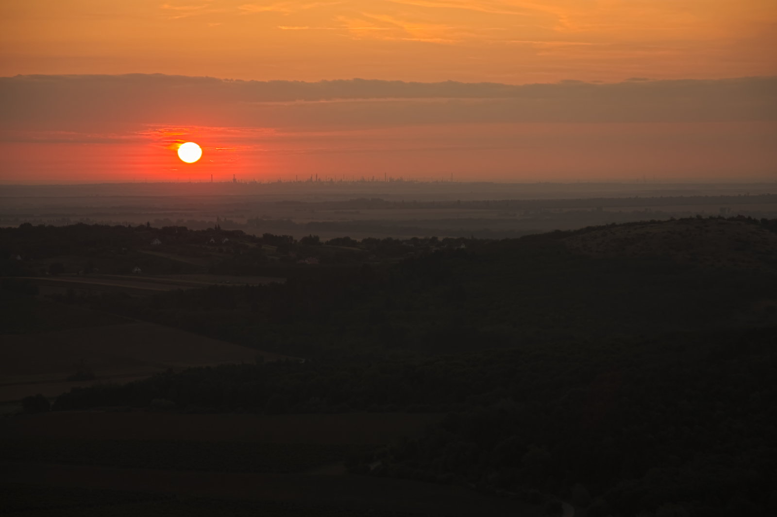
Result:
M556 82L774 75L774 0L24 0L0 75Z

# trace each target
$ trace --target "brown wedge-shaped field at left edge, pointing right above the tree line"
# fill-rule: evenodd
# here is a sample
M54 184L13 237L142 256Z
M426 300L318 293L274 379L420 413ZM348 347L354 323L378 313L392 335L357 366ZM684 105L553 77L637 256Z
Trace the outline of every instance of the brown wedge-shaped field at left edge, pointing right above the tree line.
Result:
M7 334L0 347L0 401L57 396L74 386L128 382L168 369L256 362L260 355L266 361L284 357L154 323ZM94 379L68 381L84 370Z

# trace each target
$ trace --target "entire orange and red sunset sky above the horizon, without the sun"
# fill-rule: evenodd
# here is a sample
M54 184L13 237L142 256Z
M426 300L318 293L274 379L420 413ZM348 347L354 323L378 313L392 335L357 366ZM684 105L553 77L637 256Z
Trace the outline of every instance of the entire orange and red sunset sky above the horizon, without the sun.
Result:
M773 0L2 2L0 180L773 180L775 83L720 79L775 49Z

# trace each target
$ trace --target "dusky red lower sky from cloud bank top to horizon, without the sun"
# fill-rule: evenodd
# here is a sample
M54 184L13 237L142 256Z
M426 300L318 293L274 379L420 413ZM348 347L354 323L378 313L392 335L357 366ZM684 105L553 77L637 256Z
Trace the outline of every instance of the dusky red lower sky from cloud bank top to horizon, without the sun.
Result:
M16 76L0 79L2 180L770 180L775 89L775 78L514 86ZM199 143L203 158L181 162L183 141Z

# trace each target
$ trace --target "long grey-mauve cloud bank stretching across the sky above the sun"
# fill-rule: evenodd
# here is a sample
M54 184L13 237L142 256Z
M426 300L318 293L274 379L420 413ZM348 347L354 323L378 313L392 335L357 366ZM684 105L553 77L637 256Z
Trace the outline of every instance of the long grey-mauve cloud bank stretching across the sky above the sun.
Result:
M777 120L777 78L618 83L235 81L180 75L0 78L9 131L109 131L147 124L365 128L520 122Z

